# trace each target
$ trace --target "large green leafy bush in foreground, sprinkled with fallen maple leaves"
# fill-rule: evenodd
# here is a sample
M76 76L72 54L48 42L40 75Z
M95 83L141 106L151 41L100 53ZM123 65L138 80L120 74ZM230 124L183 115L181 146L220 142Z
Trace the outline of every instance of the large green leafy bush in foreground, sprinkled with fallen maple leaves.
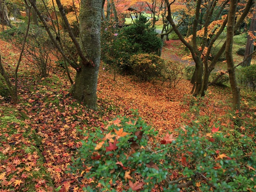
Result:
M84 188L89 192L116 191L120 183L124 191L255 191L252 138L240 136L240 147L227 149L222 128L200 129L184 125L157 138L142 118L117 117L105 132L85 133L81 157L70 168L93 181Z

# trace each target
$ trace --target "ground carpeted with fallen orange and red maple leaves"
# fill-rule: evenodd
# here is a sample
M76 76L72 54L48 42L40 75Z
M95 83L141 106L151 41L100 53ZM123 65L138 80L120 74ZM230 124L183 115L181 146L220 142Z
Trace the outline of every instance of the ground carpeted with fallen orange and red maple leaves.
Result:
M180 41L166 43L163 59L181 61L180 45ZM19 52L1 39L0 51L3 65L13 77ZM2 191L82 191L92 181L66 171L71 157L78 155L80 140L87 139L83 131L105 131L114 117L131 117L130 109L138 109L139 115L159 132L159 138L190 121L182 116L188 110L188 105L182 103L192 88L185 79L175 88L157 81L140 82L133 76L117 75L113 81L113 75L101 67L97 112L69 97L69 86L65 70L57 64L53 64L49 77L41 78L35 65L25 59L19 69L18 105L12 104L6 87L0 84ZM215 103L218 115L230 109L231 91L226 87L210 87L207 98Z

